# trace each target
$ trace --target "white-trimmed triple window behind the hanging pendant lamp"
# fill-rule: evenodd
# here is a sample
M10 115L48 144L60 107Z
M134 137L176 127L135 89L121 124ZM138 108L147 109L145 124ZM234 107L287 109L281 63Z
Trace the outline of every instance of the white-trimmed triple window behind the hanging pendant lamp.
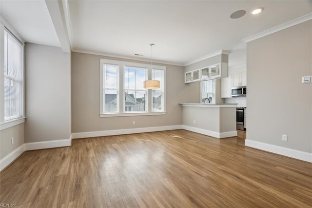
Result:
M100 117L165 114L166 67L100 59ZM145 80L159 89L145 89Z

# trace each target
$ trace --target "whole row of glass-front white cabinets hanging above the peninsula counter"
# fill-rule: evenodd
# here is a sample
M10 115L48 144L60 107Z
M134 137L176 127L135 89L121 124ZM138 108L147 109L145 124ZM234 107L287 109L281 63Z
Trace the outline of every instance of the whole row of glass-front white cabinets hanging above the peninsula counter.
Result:
M216 63L193 71L185 72L184 83L213 80L228 76L228 63Z

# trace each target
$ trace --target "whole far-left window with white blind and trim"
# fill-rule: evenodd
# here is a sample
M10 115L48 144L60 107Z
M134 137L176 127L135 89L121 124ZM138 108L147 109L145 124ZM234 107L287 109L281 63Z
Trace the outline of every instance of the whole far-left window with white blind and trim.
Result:
M1 129L16 125L24 117L23 43L0 22L3 54L0 66ZM22 121L23 122L23 121Z

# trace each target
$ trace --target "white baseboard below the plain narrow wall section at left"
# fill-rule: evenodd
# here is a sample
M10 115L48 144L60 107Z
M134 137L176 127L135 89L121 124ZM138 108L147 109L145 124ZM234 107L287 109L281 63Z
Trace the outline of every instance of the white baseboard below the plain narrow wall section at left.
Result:
M44 141L44 142L32 142L25 143L25 150L35 150L35 149L48 149L55 147L63 147L63 146L71 146L70 139L62 139L62 140L52 140L52 141Z

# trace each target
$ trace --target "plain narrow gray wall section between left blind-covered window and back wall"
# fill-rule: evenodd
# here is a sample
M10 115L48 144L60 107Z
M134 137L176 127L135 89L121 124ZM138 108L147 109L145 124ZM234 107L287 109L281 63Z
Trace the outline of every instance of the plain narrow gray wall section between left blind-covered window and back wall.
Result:
M25 143L69 139L71 55L61 48L25 46Z

